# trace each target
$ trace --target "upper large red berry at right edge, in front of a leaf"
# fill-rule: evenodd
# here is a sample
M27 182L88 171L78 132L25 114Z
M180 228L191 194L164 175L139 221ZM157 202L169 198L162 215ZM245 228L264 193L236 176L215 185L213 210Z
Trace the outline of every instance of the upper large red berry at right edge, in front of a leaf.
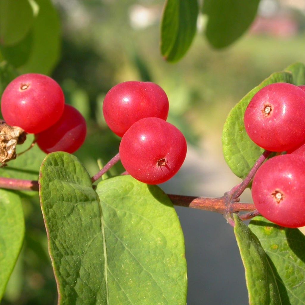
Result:
M305 140L305 92L292 84L270 84L258 91L244 116L246 132L258 146L287 151Z

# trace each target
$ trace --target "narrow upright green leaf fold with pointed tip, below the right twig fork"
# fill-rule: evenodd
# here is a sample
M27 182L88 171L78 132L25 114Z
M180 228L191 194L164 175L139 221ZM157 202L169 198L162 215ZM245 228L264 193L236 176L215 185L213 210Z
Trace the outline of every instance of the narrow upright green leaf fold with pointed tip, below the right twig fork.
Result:
M251 305L283 305L277 274L257 237L234 215L234 233L246 272ZM282 285L281 285L282 286Z

